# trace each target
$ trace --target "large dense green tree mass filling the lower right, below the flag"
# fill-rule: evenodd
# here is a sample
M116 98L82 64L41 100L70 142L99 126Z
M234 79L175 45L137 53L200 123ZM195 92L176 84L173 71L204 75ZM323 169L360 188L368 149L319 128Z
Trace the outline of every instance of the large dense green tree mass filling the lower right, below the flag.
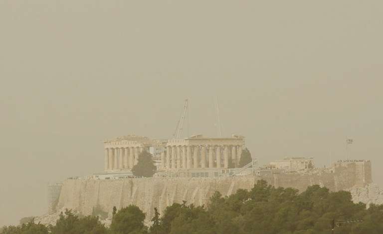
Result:
M349 192L314 185L299 194L261 180L229 197L216 192L206 208L173 204L156 234L328 234L332 220L355 219L365 222L341 226L335 234L383 233L383 205L366 209L353 203Z

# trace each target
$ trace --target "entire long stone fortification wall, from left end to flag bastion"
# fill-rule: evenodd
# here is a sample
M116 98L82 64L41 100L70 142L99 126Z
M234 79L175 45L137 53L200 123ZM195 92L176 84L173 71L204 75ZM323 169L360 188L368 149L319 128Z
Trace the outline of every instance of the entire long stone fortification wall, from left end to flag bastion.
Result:
M196 206L204 205L215 191L230 196L238 189L251 189L261 179L274 187L292 187L299 191L311 185L327 187L330 191L362 187L371 181L368 166L348 163L326 173L317 171L312 174L286 174L271 170L249 177L66 180L56 210L67 208L90 215L95 207L111 213L113 206L120 209L134 204L147 214L147 219L151 219L155 207L163 213L167 206L183 201Z

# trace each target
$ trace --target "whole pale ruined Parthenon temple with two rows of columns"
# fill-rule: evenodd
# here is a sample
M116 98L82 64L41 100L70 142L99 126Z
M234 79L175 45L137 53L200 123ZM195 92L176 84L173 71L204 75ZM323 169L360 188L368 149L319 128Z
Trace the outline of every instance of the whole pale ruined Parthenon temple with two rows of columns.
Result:
M196 135L185 139L151 140L135 135L104 141L105 172L130 170L146 150L160 162L160 170L188 170L192 168L228 168L237 165L244 137L207 138Z

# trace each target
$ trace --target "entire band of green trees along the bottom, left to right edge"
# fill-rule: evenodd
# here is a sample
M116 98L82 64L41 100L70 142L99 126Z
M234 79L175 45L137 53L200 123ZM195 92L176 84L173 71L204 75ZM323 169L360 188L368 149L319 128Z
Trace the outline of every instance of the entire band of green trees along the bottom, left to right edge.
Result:
M117 210L117 209L116 209ZM33 221L4 227L0 234L329 234L332 221L364 220L342 225L334 234L382 234L383 205L353 203L345 191L330 192L318 185L298 193L258 181L250 190L223 197L215 192L208 205L174 203L162 215L155 209L152 226L145 214L130 205L117 211L109 229L97 217L61 214L55 226Z

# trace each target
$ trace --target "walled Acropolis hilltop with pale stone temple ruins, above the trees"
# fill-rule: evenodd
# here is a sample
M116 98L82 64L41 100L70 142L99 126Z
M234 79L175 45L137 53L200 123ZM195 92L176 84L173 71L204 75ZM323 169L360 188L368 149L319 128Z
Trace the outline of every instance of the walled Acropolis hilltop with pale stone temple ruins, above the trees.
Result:
M238 189L251 189L257 180L300 191L311 185L340 191L372 183L371 162L367 160L315 168L312 158L284 158L258 168L255 160L244 168L228 168L238 165L244 148L245 138L235 135L171 140L130 135L106 140L104 172L50 186L49 213L67 208L90 215L97 207L110 216L113 206L119 209L134 204L150 220L154 208L162 213L167 206L183 201L204 205L215 191L230 196ZM152 153L156 162L158 172L153 178L132 176L131 168L143 150Z

